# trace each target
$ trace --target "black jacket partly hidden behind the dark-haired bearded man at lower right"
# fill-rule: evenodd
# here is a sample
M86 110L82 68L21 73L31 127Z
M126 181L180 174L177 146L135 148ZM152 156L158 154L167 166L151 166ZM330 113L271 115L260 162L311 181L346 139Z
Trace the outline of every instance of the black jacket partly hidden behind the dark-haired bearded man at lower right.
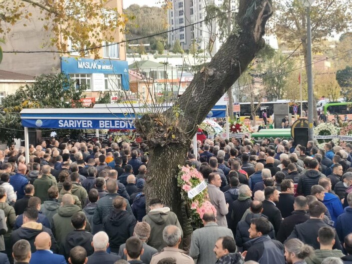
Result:
M250 223L252 221L252 219L254 218L266 218L267 217L264 214L261 213L248 213L246 215L246 218L244 220L241 220L238 222L237 227L236 227L236 245L237 246L243 246L243 251L248 250L248 248L246 248L244 246L244 243L246 243L247 241L249 241L251 238L249 238L249 232L248 229L250 227ZM271 225L271 229L270 229L270 233L268 234L270 236L270 238L275 239L275 231L274 231L274 226L270 223Z

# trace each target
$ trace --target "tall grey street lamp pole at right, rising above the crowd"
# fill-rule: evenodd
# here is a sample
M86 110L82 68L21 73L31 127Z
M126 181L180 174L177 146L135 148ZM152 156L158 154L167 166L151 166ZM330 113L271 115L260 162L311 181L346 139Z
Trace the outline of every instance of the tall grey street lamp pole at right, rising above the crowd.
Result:
M307 82L308 82L308 138L309 140L314 139L314 129L313 129L313 117L314 117L314 107L313 107L313 74L311 67L311 23L310 23L310 7L314 0L301 0L304 7L306 8L307 14Z

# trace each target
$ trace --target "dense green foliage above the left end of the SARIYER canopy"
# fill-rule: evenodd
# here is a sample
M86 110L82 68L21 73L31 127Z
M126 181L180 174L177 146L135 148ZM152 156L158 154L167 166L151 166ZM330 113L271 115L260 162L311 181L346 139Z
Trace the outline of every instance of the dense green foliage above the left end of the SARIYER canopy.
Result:
M84 85L77 86L68 75L41 75L31 85L21 87L7 96L0 114L0 140L13 142L23 138L20 112L26 108L82 108ZM16 130L10 130L16 129Z

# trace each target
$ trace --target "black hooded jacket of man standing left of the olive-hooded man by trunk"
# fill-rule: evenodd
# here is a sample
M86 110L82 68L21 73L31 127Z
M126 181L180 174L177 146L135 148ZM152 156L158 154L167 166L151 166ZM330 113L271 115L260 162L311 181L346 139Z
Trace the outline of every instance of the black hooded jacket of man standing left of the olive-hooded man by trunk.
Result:
M109 236L112 252L119 252L120 245L133 236L136 218L126 210L113 209L103 219L103 229Z

